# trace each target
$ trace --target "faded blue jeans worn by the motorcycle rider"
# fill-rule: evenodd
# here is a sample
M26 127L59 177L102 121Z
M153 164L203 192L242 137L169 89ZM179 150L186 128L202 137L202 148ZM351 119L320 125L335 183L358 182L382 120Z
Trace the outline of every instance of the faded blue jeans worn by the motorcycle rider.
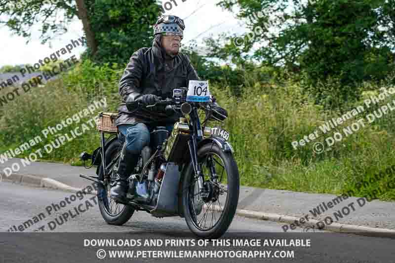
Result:
M173 130L174 123L166 123L165 125L166 130L169 132ZM141 150L150 144L150 132L157 126L160 125L147 125L144 123L119 125L118 129L124 136L126 150L130 154L140 154Z

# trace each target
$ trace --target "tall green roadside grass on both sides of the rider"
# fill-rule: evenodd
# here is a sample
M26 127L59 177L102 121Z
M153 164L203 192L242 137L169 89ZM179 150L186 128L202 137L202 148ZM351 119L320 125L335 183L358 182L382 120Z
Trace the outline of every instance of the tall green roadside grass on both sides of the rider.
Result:
M16 98L2 109L6 114L0 116L0 152L15 148L40 134L45 127L56 125L103 96L109 103L108 108L103 110L116 113L120 102L120 72L83 63L62 80L51 81L45 87L35 88ZM224 128L231 134L230 142L235 149L240 180L244 186L333 194L353 190L356 196L362 196L392 180L389 176L369 189L355 188L357 182L395 164L394 113L336 143L331 150L316 154L312 150L313 143L297 150L292 148L291 143L341 113L323 110L315 105L308 95L303 94L299 83L256 81L239 98L232 96L227 87L211 85L210 90L229 112ZM362 104L363 98L346 105L346 109ZM369 109L370 112L373 110ZM341 128L351 125L366 113L350 119ZM62 133L69 133L78 125L71 125ZM324 142L329 135L331 133L321 135L316 142ZM55 137L49 137L32 150L42 148L53 139ZM99 134L91 129L78 139L45 154L43 159L81 165L78 159L80 152L92 152L98 146ZM26 154L19 157L23 156ZM379 198L395 200L395 190L388 189Z

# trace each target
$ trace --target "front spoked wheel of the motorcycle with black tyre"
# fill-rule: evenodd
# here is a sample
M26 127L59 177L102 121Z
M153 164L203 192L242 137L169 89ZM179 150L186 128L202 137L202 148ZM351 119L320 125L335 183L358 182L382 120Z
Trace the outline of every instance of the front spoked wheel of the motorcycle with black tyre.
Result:
M239 194L237 164L233 154L223 152L217 144L201 147L197 158L204 177L204 190L200 191L190 164L183 182L185 220L198 237L218 238L226 232L236 213ZM215 176L217 180L214 180Z

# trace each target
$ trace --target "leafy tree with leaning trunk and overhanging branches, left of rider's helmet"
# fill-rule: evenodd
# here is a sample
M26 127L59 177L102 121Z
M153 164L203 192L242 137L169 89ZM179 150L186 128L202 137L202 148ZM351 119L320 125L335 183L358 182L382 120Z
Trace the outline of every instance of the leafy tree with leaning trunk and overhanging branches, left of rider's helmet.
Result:
M68 23L78 17L87 39L86 55L100 63L125 62L136 49L151 45L159 15L157 0L0 0L0 24L27 43L33 24L42 24L45 43L66 33Z

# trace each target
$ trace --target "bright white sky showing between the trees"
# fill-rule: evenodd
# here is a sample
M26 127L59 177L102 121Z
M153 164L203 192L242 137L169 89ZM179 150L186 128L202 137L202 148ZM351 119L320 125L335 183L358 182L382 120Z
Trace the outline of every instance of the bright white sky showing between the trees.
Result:
M175 6L174 1L177 3ZM203 38L218 36L223 32L242 35L246 28L242 22L236 19L236 14L223 10L216 6L220 0L162 0L162 5L171 9L165 14L177 15L185 19L186 29L184 30L183 45L195 39L198 45L202 46ZM166 9L165 9L166 10ZM40 24L32 28L32 39L26 44L26 39L12 36L7 27L0 27L0 67L4 65L35 64L40 59L44 59L53 52L60 50L70 43L72 39L77 40L83 36L82 22L75 18L69 24L69 32L45 44L40 43ZM65 54L65 59L79 55L85 47L77 47L71 50L70 54ZM131 54L130 54L131 55Z

